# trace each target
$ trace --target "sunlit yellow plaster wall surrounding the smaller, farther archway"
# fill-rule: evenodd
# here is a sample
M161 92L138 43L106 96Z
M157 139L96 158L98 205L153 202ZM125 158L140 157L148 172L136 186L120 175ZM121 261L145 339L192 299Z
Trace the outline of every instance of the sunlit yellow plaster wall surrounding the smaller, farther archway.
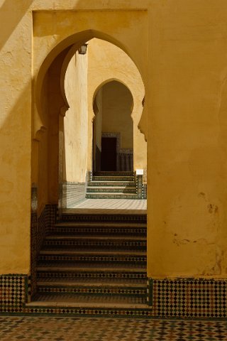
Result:
M138 129L143 112L142 101L145 96L143 80L133 60L118 46L106 40L92 39L88 45L88 108L89 126L94 117L93 101L97 90L110 80L122 82L133 95L133 163L134 168L147 168L147 144L144 135ZM145 113L144 113L145 114ZM92 129L89 127L91 136ZM124 144L124 142L123 142ZM123 147L124 148L124 147ZM129 148L129 147L128 147ZM92 158L88 155L88 167Z

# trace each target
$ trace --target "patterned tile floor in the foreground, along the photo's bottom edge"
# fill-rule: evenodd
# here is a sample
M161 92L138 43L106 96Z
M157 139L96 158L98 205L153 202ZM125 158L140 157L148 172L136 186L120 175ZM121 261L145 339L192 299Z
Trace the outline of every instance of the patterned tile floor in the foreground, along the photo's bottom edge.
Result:
M222 341L227 321L0 317L0 340Z

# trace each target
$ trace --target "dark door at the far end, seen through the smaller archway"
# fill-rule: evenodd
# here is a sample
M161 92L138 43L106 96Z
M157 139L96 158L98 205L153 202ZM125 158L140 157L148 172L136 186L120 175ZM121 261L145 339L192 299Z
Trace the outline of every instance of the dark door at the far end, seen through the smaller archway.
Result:
M116 171L116 137L101 138L101 171Z

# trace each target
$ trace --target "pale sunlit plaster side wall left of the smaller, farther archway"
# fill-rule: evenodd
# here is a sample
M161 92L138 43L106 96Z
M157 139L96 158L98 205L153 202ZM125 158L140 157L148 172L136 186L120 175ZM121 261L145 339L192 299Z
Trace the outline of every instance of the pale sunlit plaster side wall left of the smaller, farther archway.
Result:
M87 171L87 55L73 55L65 74L65 94L70 108L65 126L63 180L85 182Z

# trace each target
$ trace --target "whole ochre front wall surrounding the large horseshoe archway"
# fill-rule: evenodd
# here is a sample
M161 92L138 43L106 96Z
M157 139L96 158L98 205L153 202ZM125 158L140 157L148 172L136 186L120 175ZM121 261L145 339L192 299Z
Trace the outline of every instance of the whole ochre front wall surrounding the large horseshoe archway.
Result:
M1 274L29 272L45 70L96 37L123 48L145 84L148 276L225 278L226 0L1 0L0 22Z

